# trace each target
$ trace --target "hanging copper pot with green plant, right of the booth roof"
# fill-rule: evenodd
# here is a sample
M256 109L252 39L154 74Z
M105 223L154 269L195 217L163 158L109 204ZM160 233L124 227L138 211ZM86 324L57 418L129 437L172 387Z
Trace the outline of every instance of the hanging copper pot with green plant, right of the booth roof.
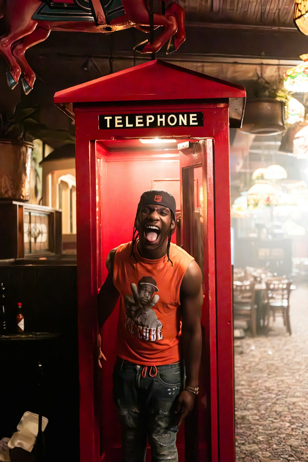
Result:
M245 106L242 131L255 135L274 135L285 131L284 106L290 99L283 80L273 83L258 79L254 95Z

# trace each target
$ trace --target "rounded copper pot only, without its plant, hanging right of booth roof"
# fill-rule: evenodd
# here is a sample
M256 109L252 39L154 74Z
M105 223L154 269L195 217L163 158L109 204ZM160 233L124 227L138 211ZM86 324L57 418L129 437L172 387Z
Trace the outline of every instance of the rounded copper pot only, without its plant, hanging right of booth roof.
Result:
M247 101L241 130L254 135L283 133L284 102L270 98Z

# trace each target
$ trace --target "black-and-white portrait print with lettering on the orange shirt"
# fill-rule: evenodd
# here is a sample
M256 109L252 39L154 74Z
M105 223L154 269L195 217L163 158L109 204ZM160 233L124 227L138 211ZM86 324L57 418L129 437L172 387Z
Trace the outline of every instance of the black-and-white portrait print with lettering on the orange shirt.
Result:
M128 332L133 335L137 329L140 339L161 340L163 325L152 310L159 300L159 295L153 295L158 292L156 280L151 276L143 276L137 286L131 284L131 289L132 295L124 295L127 315L125 326Z

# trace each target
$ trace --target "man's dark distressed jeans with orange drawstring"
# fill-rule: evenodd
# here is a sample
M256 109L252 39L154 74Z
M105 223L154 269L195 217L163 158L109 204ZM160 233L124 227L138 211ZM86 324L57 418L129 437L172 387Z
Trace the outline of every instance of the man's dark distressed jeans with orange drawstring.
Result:
M113 397L122 426L124 462L145 461L146 437L152 462L178 462L178 417L173 411L183 381L182 362L151 367L117 358Z

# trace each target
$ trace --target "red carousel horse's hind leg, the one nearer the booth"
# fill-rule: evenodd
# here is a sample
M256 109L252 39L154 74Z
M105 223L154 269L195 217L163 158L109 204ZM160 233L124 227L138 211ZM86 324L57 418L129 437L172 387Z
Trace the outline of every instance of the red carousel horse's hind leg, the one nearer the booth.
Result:
M50 29L45 29L40 26L36 26L36 29L33 30L29 35L25 36L23 40L17 43L12 49L12 55L19 64L23 72L22 85L24 93L27 95L33 88L35 81L35 73L32 71L27 60L25 59L25 51L36 45L37 43L43 42L46 40L50 34Z

